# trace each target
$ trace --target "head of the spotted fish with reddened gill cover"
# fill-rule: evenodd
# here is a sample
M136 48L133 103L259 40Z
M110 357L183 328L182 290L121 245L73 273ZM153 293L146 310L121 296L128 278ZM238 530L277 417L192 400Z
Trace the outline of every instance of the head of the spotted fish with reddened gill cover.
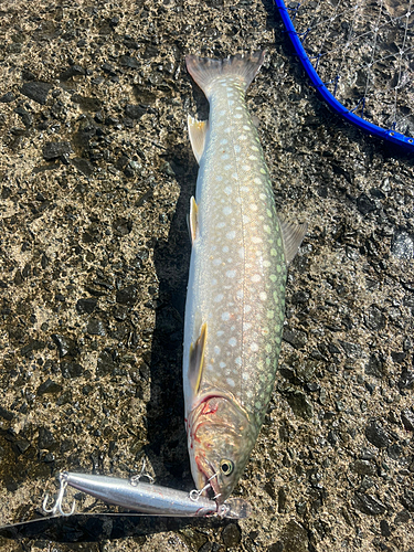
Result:
M189 422L194 482L221 505L243 474L254 445L248 420L230 397L209 396L192 411Z

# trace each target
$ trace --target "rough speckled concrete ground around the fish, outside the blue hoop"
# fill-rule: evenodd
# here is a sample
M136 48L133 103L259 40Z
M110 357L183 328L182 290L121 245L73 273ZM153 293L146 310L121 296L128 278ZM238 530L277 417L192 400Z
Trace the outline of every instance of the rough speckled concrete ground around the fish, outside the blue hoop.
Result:
M413 161L343 125L270 1L0 4L0 524L63 469L193 487L181 343L206 115L188 52L266 47L248 106L282 213L308 221L240 522L73 517L18 551L414 550ZM106 511L79 497L78 510Z

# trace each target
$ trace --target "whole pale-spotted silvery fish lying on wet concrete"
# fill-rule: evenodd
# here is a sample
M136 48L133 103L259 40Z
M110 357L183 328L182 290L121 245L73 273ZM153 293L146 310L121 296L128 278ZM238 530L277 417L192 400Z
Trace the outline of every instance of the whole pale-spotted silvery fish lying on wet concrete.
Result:
M265 52L185 56L209 100L188 117L199 163L190 200L183 388L191 473L223 503L256 443L274 388L287 268L307 225L276 212L269 171L245 94Z

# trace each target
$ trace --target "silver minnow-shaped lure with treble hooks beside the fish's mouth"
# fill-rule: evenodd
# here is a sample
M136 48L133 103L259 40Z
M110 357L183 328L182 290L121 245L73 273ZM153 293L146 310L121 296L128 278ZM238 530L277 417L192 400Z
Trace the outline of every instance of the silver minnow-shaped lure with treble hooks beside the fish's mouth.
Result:
M140 481L138 478L120 479L99 475L73 474L63 471L60 474L61 489L56 503L47 509L47 497L43 509L52 514L61 513L71 516L72 510L65 513L62 509L62 500L67 486L92 495L95 498L149 514L171 517L205 517L220 516L223 518L245 518L251 512L251 507L243 499L231 499L229 503L219 506L215 501L201 497L197 492L184 492L180 490L161 487Z

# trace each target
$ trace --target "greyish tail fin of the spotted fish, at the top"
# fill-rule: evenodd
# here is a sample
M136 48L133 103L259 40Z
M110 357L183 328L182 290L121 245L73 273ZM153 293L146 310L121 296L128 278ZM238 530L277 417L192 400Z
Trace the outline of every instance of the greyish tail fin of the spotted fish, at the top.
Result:
M264 59L265 52L258 51L248 55L236 54L225 60L187 55L185 63L190 75L209 98L213 82L220 77L236 77L244 84L246 91L261 68Z

